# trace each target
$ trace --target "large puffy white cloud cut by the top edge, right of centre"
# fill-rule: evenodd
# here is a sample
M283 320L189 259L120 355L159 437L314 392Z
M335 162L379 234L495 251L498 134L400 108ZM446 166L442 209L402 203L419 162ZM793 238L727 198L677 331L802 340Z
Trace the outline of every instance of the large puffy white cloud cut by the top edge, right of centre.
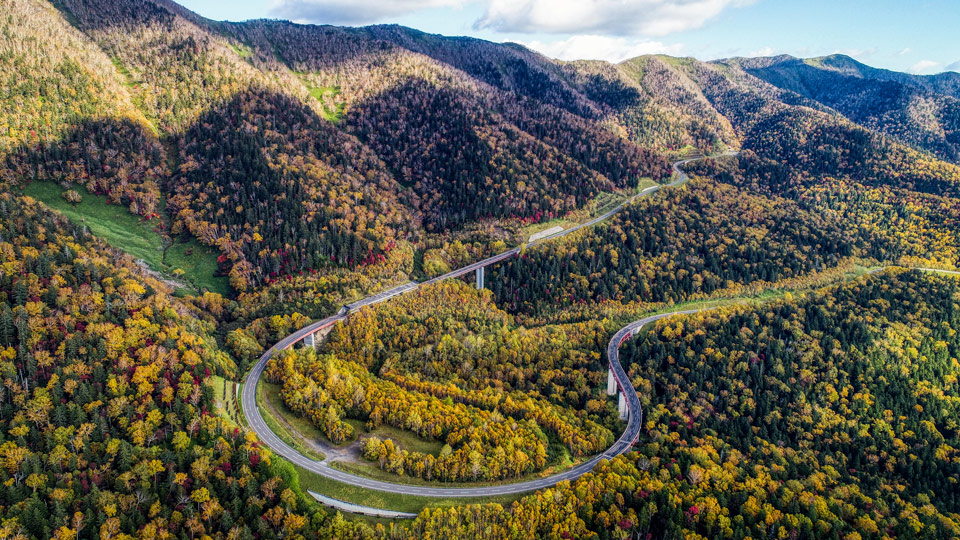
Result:
M474 29L500 32L665 36L703 26L753 0L490 0Z

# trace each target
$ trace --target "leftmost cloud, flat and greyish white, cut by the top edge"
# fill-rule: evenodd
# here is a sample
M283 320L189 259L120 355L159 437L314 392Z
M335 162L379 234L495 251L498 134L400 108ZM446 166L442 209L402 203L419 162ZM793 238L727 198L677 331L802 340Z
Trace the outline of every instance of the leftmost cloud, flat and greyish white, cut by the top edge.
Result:
M463 4L464 0L274 0L269 13L294 22L361 25Z

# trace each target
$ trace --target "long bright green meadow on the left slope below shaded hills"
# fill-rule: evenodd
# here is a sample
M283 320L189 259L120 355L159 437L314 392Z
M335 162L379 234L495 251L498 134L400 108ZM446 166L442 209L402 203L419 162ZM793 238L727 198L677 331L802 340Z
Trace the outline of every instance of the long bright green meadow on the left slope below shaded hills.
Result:
M202 246L195 240L174 242L168 247L163 237L153 230L155 221L141 222L123 206L107 204L104 196L88 193L77 186L74 189L83 197L77 205L61 197L64 190L55 182L30 182L24 186L23 193L42 201L74 223L86 225L94 235L141 259L154 271L173 276L176 281L188 281L197 290L208 289L220 294L230 292L227 278L214 276L217 270L214 248ZM184 272L182 277L174 276L178 268Z

